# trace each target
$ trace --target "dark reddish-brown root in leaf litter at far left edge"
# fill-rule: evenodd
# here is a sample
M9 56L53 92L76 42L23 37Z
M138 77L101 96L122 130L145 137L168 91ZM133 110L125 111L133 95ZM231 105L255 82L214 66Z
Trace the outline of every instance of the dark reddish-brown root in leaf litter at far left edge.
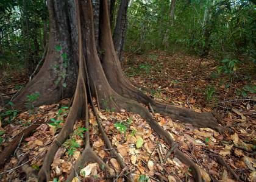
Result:
M5 147L0 154L0 167L2 167L10 158L10 156L13 155L13 152L15 152L20 142L22 142L25 138L29 137L37 127L43 124L43 122L43 120L35 122L34 124L27 127L25 130L21 131L18 135L15 136L15 138L13 138L11 142L9 142L7 147Z

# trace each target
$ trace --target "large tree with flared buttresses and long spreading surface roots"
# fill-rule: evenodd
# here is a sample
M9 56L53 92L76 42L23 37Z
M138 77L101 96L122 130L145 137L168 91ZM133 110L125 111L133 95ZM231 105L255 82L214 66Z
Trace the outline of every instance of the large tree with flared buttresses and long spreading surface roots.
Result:
M171 116L180 122L187 122L197 127L210 127L218 131L223 130L221 126L216 124L211 113L196 113L187 108L177 108L157 102L130 83L123 74L115 52L107 0L101 0L99 3L99 23L94 22L96 19L93 18L91 0L48 0L48 7L51 33L46 61L40 72L27 84L14 102L16 107L23 108L23 104L27 102L27 94L35 92L40 93L40 97L34 105L56 102L63 96L71 96L74 91L74 80L76 79L77 82L68 118L49 148L38 174L40 181L49 181L54 155L73 131L73 125L77 119L85 117L85 127L90 127L88 124L88 103L98 118L92 97L96 98L96 104L100 109L111 108L115 111L124 109L140 114L170 147L175 146L174 141L169 133L158 125L145 105L157 113ZM94 35L94 32L97 32L94 31L94 25L99 25L97 36ZM95 37L98 37L97 41ZM113 150L99 118L98 125L105 144L112 149L112 154L124 168L125 164L118 153ZM69 174L69 181L73 179L75 172L79 172L85 164L91 161L106 166L105 170L112 174L107 164L104 164L91 149L88 131L85 135L85 142L84 152L77 159L73 171ZM196 181L202 181L196 164L184 155L178 147L174 147L173 152L180 161L191 167ZM130 176L127 178L132 181Z

